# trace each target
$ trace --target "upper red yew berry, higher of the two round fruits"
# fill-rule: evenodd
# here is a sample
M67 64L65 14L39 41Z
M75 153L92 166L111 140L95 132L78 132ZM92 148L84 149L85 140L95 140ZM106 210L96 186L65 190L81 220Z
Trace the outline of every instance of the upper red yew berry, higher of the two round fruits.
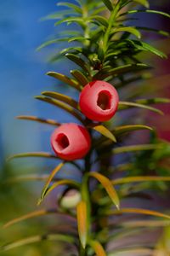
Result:
M87 84L79 99L82 113L94 121L108 121L116 113L119 96L113 85L105 81L93 81Z

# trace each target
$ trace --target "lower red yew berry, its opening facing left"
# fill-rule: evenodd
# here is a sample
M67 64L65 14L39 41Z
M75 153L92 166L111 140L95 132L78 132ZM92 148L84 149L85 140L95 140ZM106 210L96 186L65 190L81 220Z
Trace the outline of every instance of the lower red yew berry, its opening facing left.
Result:
M61 159L77 160L84 157L91 146L88 131L82 125L64 124L54 130L51 145Z

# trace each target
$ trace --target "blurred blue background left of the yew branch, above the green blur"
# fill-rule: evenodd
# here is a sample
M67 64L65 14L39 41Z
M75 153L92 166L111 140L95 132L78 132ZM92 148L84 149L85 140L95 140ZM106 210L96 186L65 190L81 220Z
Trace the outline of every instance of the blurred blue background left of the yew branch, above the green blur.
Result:
M5 0L0 2L0 159L26 151L49 151L53 127L14 119L20 114L55 118L65 122L67 114L37 102L33 96L52 90L57 82L45 75L49 70L65 72L47 61L50 50L37 47L54 34L54 20L40 19L56 11L56 1ZM61 8L60 8L61 9ZM63 29L59 26L57 29ZM68 69L68 68L67 68ZM60 90L65 90L59 86ZM33 160L34 161L34 160ZM32 163L32 161L31 161Z

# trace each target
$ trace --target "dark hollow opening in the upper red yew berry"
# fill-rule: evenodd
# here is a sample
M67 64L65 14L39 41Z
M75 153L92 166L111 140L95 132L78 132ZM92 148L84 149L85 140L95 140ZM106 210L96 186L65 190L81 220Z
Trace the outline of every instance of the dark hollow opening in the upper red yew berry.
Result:
M107 110L111 108L111 95L109 91L102 90L99 92L97 104L99 108Z

